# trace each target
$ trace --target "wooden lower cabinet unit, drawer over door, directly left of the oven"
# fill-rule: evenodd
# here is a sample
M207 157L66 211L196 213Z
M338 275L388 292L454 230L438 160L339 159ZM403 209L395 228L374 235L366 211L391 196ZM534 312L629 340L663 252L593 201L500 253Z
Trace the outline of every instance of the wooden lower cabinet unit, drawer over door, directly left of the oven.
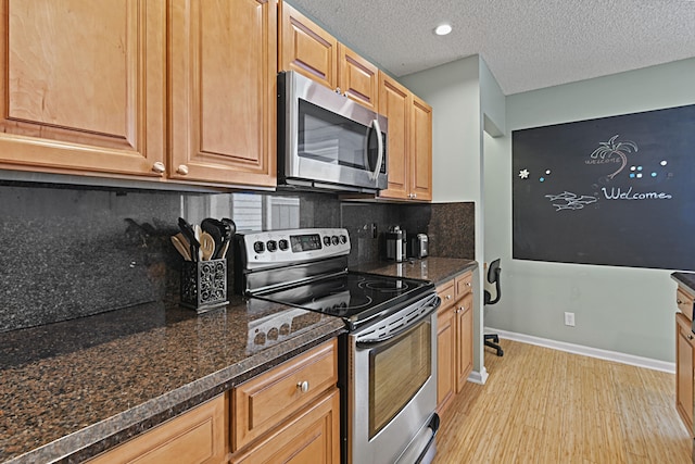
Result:
M231 463L340 463L337 339L232 390Z

